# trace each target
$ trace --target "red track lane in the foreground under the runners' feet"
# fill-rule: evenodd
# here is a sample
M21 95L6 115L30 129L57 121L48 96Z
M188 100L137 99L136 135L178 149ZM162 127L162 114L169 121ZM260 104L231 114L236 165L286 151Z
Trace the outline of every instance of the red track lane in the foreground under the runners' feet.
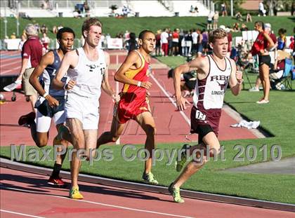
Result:
M44 175L0 170L1 217L294 217L292 212L191 198L178 204L171 201L171 196L161 193L86 182L79 186L84 200L72 200L67 198L68 189L48 186L48 177Z

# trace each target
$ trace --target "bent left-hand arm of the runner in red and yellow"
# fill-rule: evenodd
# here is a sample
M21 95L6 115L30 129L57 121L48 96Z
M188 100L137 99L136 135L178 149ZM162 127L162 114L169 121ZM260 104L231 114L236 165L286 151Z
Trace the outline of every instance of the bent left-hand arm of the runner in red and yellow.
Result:
M116 72L116 74L114 74L114 80L115 81L119 81L120 83L125 83L125 84L130 84L130 85L135 85L138 86L138 81L136 81L135 79L130 79L128 78L125 73L126 71L128 71L130 68L136 69L138 67L141 66L141 60L140 57L138 55L138 53L136 53L135 50L131 51L131 53L129 53L129 55L126 57L126 60L124 61L124 63L121 65L121 67L118 69L118 71ZM152 83L150 82L141 82L140 87L149 89L152 86Z

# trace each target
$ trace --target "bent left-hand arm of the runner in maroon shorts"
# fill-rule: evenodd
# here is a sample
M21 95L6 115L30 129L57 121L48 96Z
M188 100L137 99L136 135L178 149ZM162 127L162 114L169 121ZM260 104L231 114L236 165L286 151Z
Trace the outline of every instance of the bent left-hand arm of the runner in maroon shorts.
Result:
M176 67L176 69L174 69L173 84L176 95L176 104L180 111L186 109L185 103L190 104L190 102L188 102L188 100L183 98L181 95L181 74L185 74L189 71L197 69L197 74L205 74L205 72L208 71L208 69L206 69L206 65L209 65L207 57L197 57L194 60L185 64L181 64L180 66Z

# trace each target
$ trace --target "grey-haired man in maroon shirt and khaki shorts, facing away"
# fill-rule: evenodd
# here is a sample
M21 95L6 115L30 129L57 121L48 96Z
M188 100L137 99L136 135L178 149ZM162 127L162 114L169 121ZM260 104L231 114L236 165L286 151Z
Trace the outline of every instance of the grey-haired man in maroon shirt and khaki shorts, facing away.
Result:
M37 90L29 83L29 76L31 76L42 57L42 44L38 37L36 27L28 24L25 27L25 34L27 35L27 41L22 46L22 67L15 83L22 82L25 96L29 97L29 101L31 102L32 112L20 116L18 120L19 125L26 124L29 118L35 118L36 116L34 105L37 101Z

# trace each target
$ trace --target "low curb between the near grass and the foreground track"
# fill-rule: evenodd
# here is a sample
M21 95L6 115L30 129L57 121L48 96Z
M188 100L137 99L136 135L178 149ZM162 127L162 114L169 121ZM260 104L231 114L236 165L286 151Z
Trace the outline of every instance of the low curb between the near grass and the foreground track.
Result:
M0 158L0 167L12 169L12 170L31 172L35 174L41 174L41 175L51 175L51 172L52 172L52 169L49 169L49 168L41 168L34 165L19 163L19 162L8 160L6 158ZM60 175L65 179L70 179L70 172L61 171ZM153 186L148 184L140 184L136 182L126 182L126 181L108 179L104 177L96 177L91 175L79 174L79 181L89 182L93 184L103 184L107 186L117 186L120 188L127 188L127 189L136 189L140 191L150 191L150 192L156 192L156 193L169 194L169 191L167 187L165 186ZM277 202L271 202L266 200L240 198L235 196L224 196L224 195L219 195L214 193L204 193L199 191L188 191L188 190L181 190L181 196L187 197L187 198L200 199L200 200L210 200L210 201L215 201L218 203L231 203L236 205L246 205L251 207L262 207L262 208L272 209L272 210L284 210L284 211L295 212L295 205L289 204L289 203L277 203Z

